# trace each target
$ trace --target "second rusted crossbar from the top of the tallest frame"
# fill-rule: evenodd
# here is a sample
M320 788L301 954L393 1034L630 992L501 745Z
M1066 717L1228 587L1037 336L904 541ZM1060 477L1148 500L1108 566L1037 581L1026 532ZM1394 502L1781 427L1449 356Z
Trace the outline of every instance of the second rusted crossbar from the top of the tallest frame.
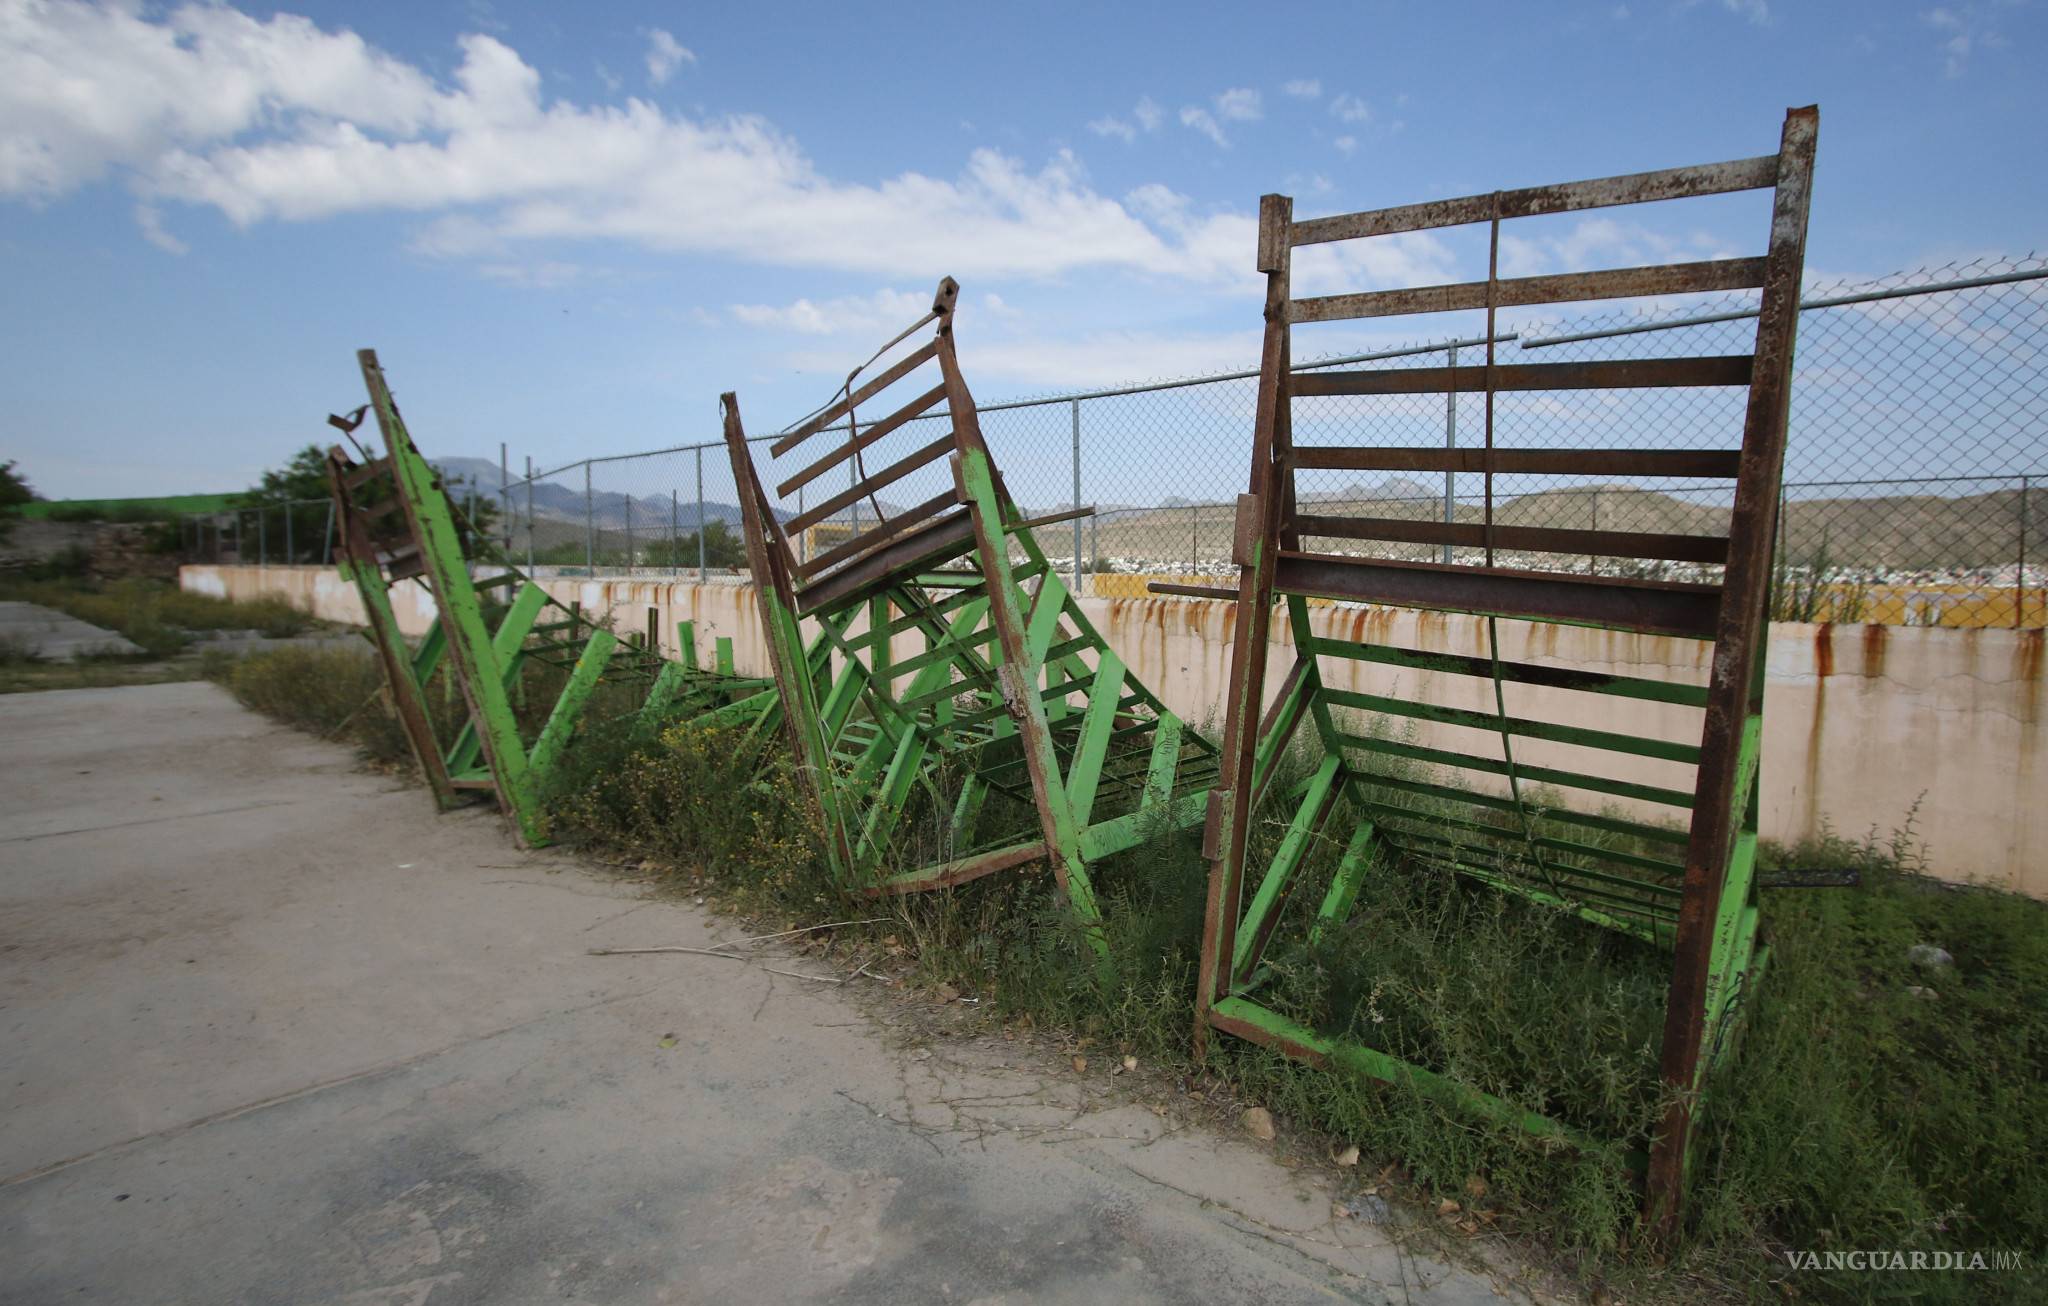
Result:
M1602 272L1516 276L1495 282L1466 280L1450 287L1417 287L1409 291L1321 295L1317 299L1296 299L1288 305L1288 321L1458 313L1462 309L1483 309L1489 301L1497 309L1509 309L1538 303L1581 303L1587 299L1634 299L1636 295L1704 295L1716 291L1753 291L1759 285L1763 285L1761 258L1712 258L1642 268L1608 268Z

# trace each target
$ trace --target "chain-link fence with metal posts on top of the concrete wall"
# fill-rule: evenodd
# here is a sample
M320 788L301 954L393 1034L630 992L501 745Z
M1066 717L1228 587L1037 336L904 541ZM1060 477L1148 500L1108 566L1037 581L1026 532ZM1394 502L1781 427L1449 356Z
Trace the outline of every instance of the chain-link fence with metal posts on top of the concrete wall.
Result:
M1628 311L1559 323L1505 323L1493 360L1575 362L1745 354L1755 297L1683 313ZM1509 330L1513 328L1513 330ZM1788 620L1944 626L2048 622L2048 260L1976 260L1876 282L1810 289L1800 315L1774 614ZM971 348L965 352L973 366ZM1479 334L1298 364L1483 364ZM1257 373L1161 381L985 403L983 434L1012 495L1032 516L1077 506L1094 514L1049 524L1038 542L1077 587L1141 596L1149 577L1229 577L1237 491L1251 459ZM743 399L743 397L741 397ZM1493 399L1493 438L1511 448L1735 448L1747 389L1516 391ZM1298 444L1477 448L1485 395L1354 395L1294 403ZM932 418L924 440L940 434ZM918 428L907 424L905 430ZM911 432L915 434L915 432ZM911 440L922 442L922 440ZM848 485L858 479L848 461ZM803 555L936 493L942 465L891 485L905 502L858 499L801 534ZM494 534L541 571L741 579L739 493L719 440L588 459L485 481ZM475 481L473 479L473 481ZM768 481L764 473L764 481ZM926 487L932 481L932 487ZM840 487L807 485L780 504ZM1337 473L1298 477L1303 512L1417 522L1563 526L1612 532L1720 534L1733 481L1626 485L1599 477L1481 473ZM309 561L324 504L279 522L195 524L205 557ZM270 514L274 516L274 514ZM211 536L207 534L211 530ZM332 534L332 532L328 532ZM211 540L211 549L205 545ZM1446 545L1323 540L1335 551L1442 557ZM283 549L283 553L279 553ZM1452 551L1464 561L1462 547ZM324 557L324 555L322 555ZM311 559L317 561L317 559ZM1501 555L1499 561L1518 559ZM1538 565L1556 567L1550 557ZM1704 579L1700 563L1569 563L1610 575Z

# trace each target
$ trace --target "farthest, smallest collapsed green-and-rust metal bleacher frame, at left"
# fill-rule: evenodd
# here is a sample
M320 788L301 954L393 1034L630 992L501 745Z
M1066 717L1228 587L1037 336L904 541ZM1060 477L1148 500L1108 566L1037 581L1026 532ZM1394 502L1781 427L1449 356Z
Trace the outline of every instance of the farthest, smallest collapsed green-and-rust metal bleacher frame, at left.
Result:
M682 659L670 661L659 653L653 610L645 630L621 637L549 598L463 520L440 473L412 442L377 352L360 350L356 358L369 403L328 422L350 434L373 411L385 454L356 446L358 459L338 444L328 450L336 565L362 600L391 708L442 811L461 802L465 790L487 792L526 843L545 843L547 780L600 684L614 698L610 708L631 710L649 731L680 719L778 727L774 686L733 676L729 641L719 641L717 669L705 671L696 665L690 622L678 624ZM418 647L406 641L391 608L393 585L408 579L434 596L436 618ZM537 667L563 676L535 676L528 684ZM453 671L463 696L465 723L453 741L436 737L424 694L436 671ZM543 690L555 696L537 710L530 694ZM629 702L616 702L618 696Z

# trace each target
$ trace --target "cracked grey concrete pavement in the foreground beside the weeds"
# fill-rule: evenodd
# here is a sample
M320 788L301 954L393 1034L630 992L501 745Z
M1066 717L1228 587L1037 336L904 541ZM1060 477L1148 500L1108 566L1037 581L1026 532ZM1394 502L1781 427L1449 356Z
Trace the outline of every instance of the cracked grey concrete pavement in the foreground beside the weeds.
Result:
M1143 1075L588 956L717 933L213 686L0 737L0 1300L1497 1300Z

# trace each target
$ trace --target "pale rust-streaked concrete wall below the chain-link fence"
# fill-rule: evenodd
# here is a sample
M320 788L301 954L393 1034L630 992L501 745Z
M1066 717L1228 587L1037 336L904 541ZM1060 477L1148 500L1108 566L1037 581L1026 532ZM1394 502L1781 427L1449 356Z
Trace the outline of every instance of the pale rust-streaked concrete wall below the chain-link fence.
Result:
M326 567L184 567L186 590L225 598L283 596L315 616L362 622L354 587ZM651 579L547 579L561 602L616 614L645 628L657 610L664 641L694 620L698 649L729 637L741 671L766 673L766 643L752 585L696 585ZM420 585L393 594L399 624L420 635L434 618ZM1235 604L1180 598L1083 600L1110 647L1159 698L1192 723L1217 725L1229 680ZM1487 655L1481 618L1317 608L1311 622L1329 635L1446 653ZM1290 645L1282 630L1276 643ZM1614 635L1579 626L1499 622L1501 657L1645 678L1704 678L1706 645L1655 635ZM1276 649L1270 690L1292 649ZM1325 659L1331 684L1372 694L1491 710L1491 688L1468 678L1401 671ZM1669 704L1507 686L1516 716L1698 739L1700 712ZM1931 870L2048 899L2048 782L2040 731L2042 630L1950 630L1921 626L1829 626L1776 622L1765 688L1763 833L1798 839L1833 829L1888 835L1907 813L1925 841ZM1460 727L1427 727L1417 743L1481 751L1485 737ZM1497 743L1495 743L1497 747ZM1493 755L1493 753L1489 753ZM1518 741L1518 761L1585 770L1581 749ZM1610 772L1622 774L1622 772ZM1626 778L1686 784L1690 768L1640 759ZM1626 807L1626 804L1620 804ZM1669 815L1642 809L1640 815Z

